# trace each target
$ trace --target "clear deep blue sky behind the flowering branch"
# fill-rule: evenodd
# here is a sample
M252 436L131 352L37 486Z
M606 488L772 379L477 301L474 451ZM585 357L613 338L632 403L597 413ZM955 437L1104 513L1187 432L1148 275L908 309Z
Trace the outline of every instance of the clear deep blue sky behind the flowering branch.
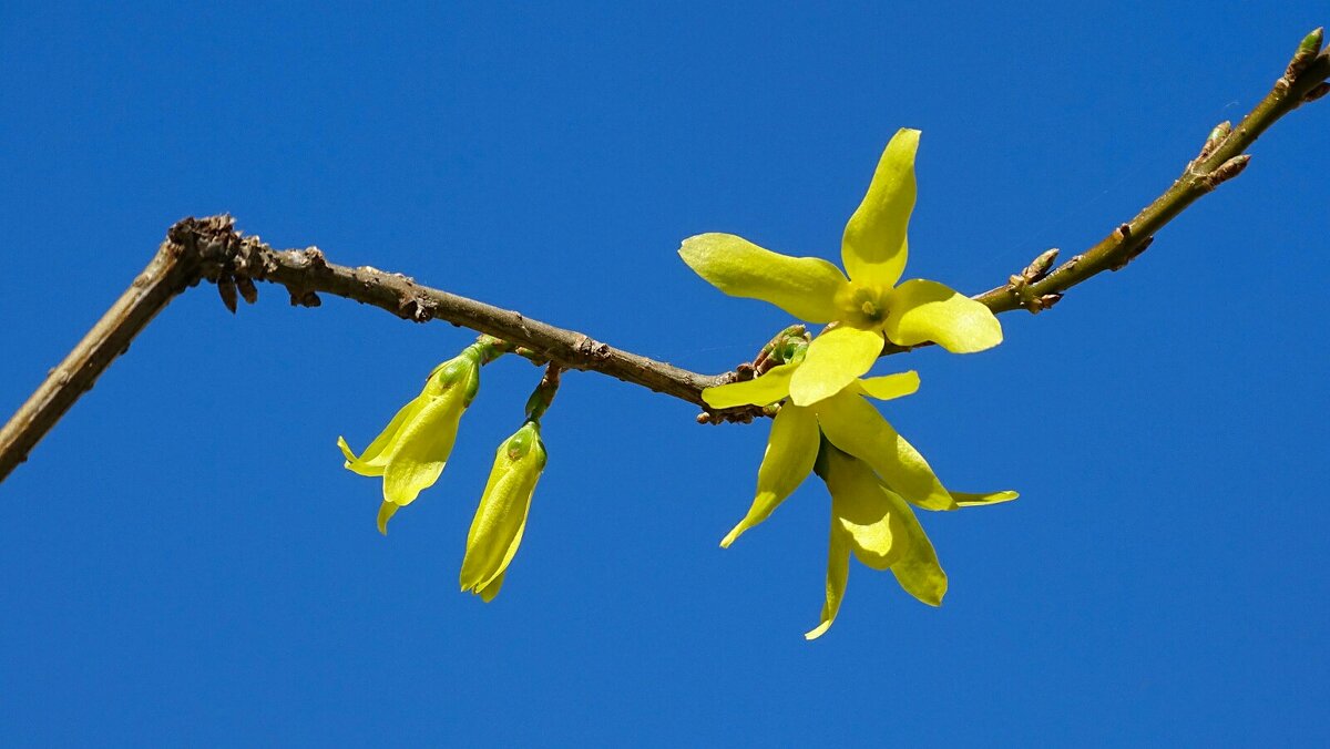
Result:
M790 321L680 239L834 258L923 130L910 275L1084 249L1237 118L1323 3L0 8L0 411L172 222L407 273L697 371ZM456 592L539 371L484 371L439 484L374 529L346 472L469 342L279 289L177 299L3 486L5 744L1323 744L1330 102L1127 270L886 415L960 490L940 609L851 571L827 500L730 549L766 430L569 374L499 599Z

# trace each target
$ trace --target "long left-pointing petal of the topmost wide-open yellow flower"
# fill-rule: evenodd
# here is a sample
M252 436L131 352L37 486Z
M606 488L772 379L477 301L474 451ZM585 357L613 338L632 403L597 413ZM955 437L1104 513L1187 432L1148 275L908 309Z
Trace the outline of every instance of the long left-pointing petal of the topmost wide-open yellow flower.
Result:
M837 318L834 298L846 279L841 269L822 258L782 255L734 234L689 237L678 254L732 297L762 299L809 322Z

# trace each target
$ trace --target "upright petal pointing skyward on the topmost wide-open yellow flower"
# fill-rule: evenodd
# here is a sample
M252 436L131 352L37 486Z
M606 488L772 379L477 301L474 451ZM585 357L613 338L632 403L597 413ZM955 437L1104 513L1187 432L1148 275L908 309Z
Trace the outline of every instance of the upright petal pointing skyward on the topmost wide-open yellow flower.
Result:
M845 225L841 258L850 278L861 283L891 287L904 271L916 150L919 130L898 130L882 152L863 202Z

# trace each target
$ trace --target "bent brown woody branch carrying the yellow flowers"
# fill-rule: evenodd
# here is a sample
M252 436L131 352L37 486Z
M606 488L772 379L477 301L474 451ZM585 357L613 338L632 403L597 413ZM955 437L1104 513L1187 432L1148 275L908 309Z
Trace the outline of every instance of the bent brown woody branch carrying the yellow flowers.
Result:
M1321 51L1322 31L1298 47L1285 75L1238 124L1221 124L1206 138L1200 156L1186 165L1173 185L1127 224L1093 247L1052 269L1056 250L1041 254L1003 286L975 297L994 313L1025 309L1039 313L1063 294L1103 273L1119 270L1140 255L1154 234L1188 206L1220 184L1236 177L1250 160L1244 152L1270 125L1307 101L1330 93L1330 51ZM1052 269L1052 270L1051 270ZM404 319L442 319L524 346L540 358L573 370L593 370L640 384L706 408L704 388L730 382L737 373L704 375L638 354L622 351L588 335L535 321L475 299L450 294L414 279L368 266L347 267L327 262L317 247L274 250L255 237L242 237L229 216L186 218L168 231L166 241L129 290L106 311L65 359L48 374L36 392L0 428L0 482L27 459L28 452L69 407L92 388L110 362L170 299L207 279L234 311L237 297L254 302L255 281L285 286L291 303L318 306L319 294L334 294L374 305ZM883 355L908 349L887 345ZM751 374L751 367L743 370ZM751 420L757 408L709 412L700 420Z

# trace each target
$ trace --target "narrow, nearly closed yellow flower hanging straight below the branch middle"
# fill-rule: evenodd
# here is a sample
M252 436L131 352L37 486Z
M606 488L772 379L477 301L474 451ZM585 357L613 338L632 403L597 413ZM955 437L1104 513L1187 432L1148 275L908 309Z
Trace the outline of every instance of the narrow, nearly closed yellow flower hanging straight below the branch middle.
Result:
M485 603L499 595L504 572L527 529L531 496L544 468L545 444L540 440L539 423L527 422L499 446L467 533L460 575L463 591L476 593Z

